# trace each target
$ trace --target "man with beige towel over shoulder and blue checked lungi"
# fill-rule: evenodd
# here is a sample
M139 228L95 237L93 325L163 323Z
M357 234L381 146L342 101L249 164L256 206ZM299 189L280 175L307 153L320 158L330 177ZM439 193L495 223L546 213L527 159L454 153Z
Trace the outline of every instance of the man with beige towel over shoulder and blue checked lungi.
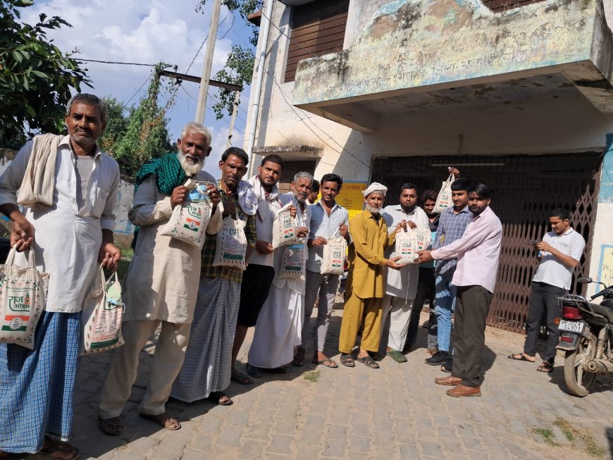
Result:
M104 102L77 94L64 120L68 135L36 136L0 178L0 211L13 223L11 245L33 249L37 268L49 273L34 349L0 344L0 456L78 458L66 441L81 309L98 264L114 270L120 259L113 244L119 166L96 145L106 127ZM20 254L15 261L27 265Z

